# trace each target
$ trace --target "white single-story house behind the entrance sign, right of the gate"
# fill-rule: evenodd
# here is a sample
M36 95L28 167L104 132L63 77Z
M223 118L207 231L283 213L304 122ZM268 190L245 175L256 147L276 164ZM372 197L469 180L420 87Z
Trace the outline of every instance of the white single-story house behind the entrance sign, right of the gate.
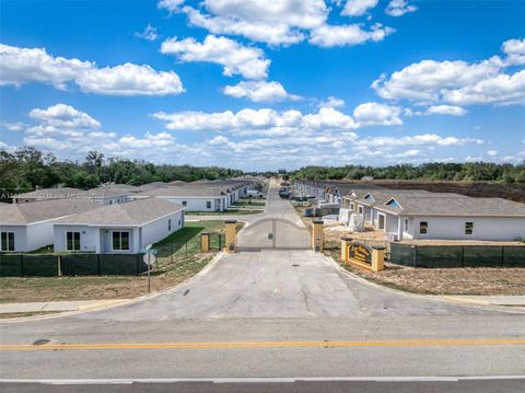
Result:
M392 240L513 241L525 238L525 204L415 189L353 193L345 204ZM353 206L352 206L353 205Z

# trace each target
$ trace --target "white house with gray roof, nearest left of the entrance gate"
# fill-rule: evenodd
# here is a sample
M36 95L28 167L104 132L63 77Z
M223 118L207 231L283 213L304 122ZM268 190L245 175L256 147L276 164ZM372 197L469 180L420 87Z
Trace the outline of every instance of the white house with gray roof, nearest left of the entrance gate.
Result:
M184 227L184 207L160 198L69 216L55 222L56 252L137 254Z

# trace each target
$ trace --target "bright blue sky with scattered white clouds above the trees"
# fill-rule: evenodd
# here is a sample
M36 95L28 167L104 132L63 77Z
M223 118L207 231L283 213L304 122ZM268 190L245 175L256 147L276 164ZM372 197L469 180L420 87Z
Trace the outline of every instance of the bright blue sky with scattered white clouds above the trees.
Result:
M244 170L525 159L525 1L2 1L0 147Z

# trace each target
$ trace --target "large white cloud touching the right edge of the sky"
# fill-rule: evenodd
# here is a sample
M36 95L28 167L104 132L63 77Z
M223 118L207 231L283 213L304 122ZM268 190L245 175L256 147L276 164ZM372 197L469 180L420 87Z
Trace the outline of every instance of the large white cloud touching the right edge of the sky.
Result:
M381 76L372 88L383 99L417 104L523 104L525 71L505 73L505 69L525 63L524 47L523 41L510 39L502 45L504 57L492 56L478 62L422 60Z

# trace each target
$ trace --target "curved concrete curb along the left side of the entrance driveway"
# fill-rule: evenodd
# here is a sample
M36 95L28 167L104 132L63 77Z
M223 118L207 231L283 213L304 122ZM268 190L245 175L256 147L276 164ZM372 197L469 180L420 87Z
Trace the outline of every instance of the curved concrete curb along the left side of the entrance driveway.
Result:
M57 319L57 317L85 314L85 313L89 313L89 312L112 309L112 308L116 308L116 307L120 307L120 305L133 304L133 303L141 302L143 300L153 299L153 298L156 298L158 296L175 291L175 290L178 289L178 287L180 287L183 285L186 285L186 284L192 281L194 279L197 279L198 277L205 275L208 270L211 269L212 266L214 266L222 258L222 256L224 254L225 254L224 251L220 251L219 254L217 254L213 257L213 259L211 259L208 263L208 265L206 265L205 268L202 270L200 270L199 273L197 273L195 276L188 278L185 281L178 282L176 286L167 288L163 291L147 293L147 294L142 294L140 297L133 298L133 299L124 299L121 301L119 301L118 299L101 300L97 304L94 304L94 305L85 305L84 308L79 308L79 310L58 312L58 313L55 313L55 314L51 314L51 315L35 315L35 316L20 316L20 317L12 317L12 319L3 319L3 320L0 320L0 325L10 324L10 323L19 323L19 322L45 321L45 320L51 320L51 319ZM110 304L105 304L105 302L108 302L108 301L112 301L112 300L114 300L115 302L110 303Z

